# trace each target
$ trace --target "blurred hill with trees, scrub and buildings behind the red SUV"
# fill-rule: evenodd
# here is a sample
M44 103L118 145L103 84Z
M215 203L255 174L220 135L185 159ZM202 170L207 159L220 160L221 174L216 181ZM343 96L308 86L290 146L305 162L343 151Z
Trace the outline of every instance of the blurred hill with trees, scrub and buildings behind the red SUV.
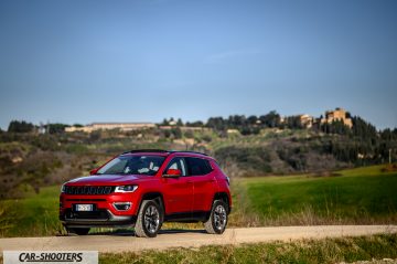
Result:
M346 119L342 120L330 119L331 114L328 119L307 115L281 118L270 112L212 117L206 123L165 119L139 129L89 133L65 133L64 124L36 127L11 122L8 131L0 131L0 199L21 197L26 188L39 192L44 186L87 175L109 157L139 148L204 151L230 177L326 176L333 170L397 160L397 129L377 130L343 113Z

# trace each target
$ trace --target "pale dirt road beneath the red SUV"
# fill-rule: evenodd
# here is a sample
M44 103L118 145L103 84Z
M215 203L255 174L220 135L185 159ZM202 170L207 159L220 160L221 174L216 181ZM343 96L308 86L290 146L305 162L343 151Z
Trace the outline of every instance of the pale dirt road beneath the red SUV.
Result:
M162 231L155 239L140 239L133 233L93 234L86 236L47 236L0 239L0 254L4 250L89 250L122 252L197 247L215 244L239 244L300 239L323 239L397 233L397 225L318 225L227 229L223 235L206 234L201 230Z

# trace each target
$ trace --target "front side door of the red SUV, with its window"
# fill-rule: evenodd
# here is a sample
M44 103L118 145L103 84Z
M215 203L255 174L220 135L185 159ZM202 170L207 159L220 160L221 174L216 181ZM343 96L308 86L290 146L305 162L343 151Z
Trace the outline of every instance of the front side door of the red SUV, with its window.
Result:
M162 178L163 198L165 202L165 214L183 214L190 215L193 207L193 182L187 177L187 168L182 157L174 157L167 165L163 175L168 169L179 169L181 177Z

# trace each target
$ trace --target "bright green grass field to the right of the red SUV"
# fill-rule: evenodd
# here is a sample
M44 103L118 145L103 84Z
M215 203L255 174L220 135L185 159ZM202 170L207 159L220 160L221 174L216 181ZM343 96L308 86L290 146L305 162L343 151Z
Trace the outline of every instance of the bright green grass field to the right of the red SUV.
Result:
M382 166L309 175L243 179L261 224L393 223L397 172Z

